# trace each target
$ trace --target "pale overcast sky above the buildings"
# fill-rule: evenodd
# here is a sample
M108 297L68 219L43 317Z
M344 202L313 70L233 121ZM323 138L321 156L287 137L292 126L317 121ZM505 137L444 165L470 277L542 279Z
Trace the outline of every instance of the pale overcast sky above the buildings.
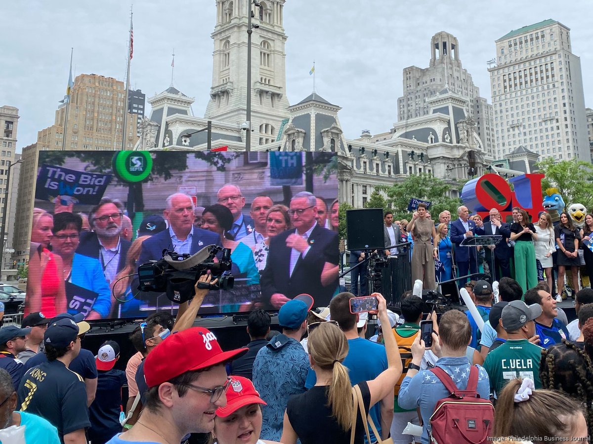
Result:
M244 0L247 1L247 0ZM552 18L568 26L581 57L585 104L593 107L593 27L585 0L489 2L287 0L284 8L286 93L295 104L316 89L342 107L347 138L363 129L388 131L397 121L401 73L426 68L431 37L457 37L463 67L490 100L486 61L495 43L513 29ZM130 82L151 97L171 82L195 97L202 117L212 84L214 0L142 0L134 5L134 57ZM75 75L101 74L125 81L129 4L121 0L0 1L2 62L0 105L19 108L18 151L54 123L68 81L70 48Z

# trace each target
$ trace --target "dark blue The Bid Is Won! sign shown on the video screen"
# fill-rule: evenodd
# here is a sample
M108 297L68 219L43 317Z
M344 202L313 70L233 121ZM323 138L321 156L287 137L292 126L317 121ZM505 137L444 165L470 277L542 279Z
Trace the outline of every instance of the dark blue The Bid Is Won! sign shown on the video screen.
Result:
M107 186L111 174L86 173L43 164L37 175L35 199L53 202L56 196L74 197L77 202L97 205Z

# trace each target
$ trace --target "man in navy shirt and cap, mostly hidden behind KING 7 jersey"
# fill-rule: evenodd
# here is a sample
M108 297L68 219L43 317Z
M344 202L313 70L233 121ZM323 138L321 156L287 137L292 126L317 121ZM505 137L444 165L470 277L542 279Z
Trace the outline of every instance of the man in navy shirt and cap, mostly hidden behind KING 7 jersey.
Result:
M84 339L85 333L88 330L88 323L82 321L84 319L84 315L82 315L82 313L76 314L74 316L68 313L61 313L52 318L49 321L49 324L52 325L61 319L69 319L76 322L76 325L79 326L80 331L82 332L80 334L80 338L81 340ZM45 342L43 342L42 345L44 347ZM43 352L40 351L35 356L27 360L25 363L25 374L33 367L47 362L47 359L47 354L43 349ZM72 362L69 363L68 369L82 376L82 379L84 379L84 384L87 389L87 405L91 405L97 392L97 365L95 364L95 356L93 352L81 348L79 353L72 359Z

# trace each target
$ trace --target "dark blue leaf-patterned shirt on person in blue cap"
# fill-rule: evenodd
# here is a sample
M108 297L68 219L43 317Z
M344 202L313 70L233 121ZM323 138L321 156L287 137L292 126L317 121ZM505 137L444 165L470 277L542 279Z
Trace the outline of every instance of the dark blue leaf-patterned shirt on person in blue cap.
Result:
M267 405L262 409L261 439L280 441L288 398L305 392L309 358L295 339L279 334L257 352L253 385Z

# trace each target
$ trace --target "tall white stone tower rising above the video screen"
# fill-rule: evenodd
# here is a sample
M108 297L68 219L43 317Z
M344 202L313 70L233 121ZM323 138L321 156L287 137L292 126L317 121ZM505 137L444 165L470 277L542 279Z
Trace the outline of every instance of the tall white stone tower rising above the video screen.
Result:
M253 145L276 140L288 119L286 98L285 0L216 2L212 88L205 118L241 125L247 120L247 14L253 8L251 34L251 129ZM259 142L259 143L258 143Z

